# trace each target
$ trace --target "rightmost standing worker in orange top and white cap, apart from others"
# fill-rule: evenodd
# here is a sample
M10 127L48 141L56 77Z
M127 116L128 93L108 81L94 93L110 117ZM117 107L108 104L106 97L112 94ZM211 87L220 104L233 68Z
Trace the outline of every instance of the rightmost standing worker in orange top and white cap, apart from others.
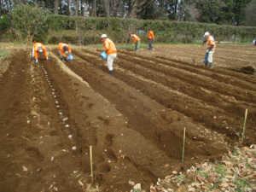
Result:
M206 40L204 40L202 44L207 43L207 51L206 51L205 60L204 60L205 67L208 67L208 65L210 64L210 69L212 69L213 68L212 56L216 48L216 44L215 44L214 38L210 35L209 32L205 32L204 38L206 38Z

